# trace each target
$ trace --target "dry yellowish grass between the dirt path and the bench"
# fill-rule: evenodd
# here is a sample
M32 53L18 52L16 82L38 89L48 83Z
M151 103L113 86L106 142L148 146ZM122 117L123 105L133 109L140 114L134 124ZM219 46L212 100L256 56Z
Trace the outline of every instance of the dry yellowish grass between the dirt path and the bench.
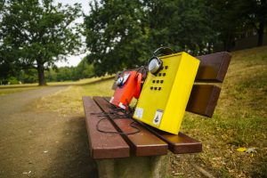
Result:
M62 116L84 115L83 96L111 96L113 78L98 78L98 82L87 85L71 85L60 93L54 93L33 103L37 109L50 109L61 113ZM56 99L56 100L55 100ZM61 106L61 107L58 107Z

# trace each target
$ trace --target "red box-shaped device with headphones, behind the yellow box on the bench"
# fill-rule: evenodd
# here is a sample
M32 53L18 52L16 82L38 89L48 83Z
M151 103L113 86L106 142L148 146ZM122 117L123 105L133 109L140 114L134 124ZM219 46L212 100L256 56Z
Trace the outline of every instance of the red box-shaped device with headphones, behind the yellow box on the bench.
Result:
M117 78L117 88L110 103L127 109L133 97L138 99L141 93L142 74L135 70L126 70Z

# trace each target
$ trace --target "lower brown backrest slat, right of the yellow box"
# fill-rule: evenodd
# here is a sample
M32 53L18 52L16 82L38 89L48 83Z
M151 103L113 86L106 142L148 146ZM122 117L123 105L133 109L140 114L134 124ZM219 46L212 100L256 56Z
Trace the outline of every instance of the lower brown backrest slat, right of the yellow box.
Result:
M212 117L221 88L216 85L193 85L186 111Z

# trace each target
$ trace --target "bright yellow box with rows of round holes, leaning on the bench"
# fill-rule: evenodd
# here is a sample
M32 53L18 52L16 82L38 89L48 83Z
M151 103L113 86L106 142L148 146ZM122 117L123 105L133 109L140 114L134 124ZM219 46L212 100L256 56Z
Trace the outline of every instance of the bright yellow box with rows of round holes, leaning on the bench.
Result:
M178 134L199 61L188 53L159 57L163 69L149 72L134 111L134 118L171 134Z

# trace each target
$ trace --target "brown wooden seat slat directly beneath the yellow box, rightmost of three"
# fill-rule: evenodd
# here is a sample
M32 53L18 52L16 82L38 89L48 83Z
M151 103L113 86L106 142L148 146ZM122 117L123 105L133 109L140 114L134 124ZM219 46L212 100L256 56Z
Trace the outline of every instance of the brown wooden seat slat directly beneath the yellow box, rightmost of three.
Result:
M150 132L156 134L160 139L167 142L169 150L171 150L175 154L197 153L202 151L202 143L193 138L190 138L190 136L186 134L168 134L150 125L146 125L140 121L138 122L148 130L150 130Z

